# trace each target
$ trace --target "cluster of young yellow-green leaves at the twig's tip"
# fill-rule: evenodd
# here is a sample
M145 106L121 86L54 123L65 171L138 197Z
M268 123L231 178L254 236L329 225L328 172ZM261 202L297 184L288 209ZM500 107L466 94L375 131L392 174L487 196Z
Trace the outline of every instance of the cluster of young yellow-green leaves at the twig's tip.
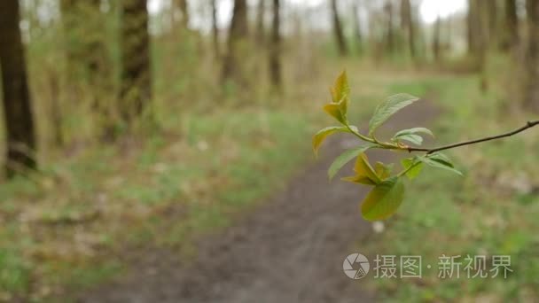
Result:
M339 122L339 125L319 130L313 137L313 150L317 154L324 140L335 133L348 133L362 142L334 159L328 169L328 176L331 180L342 167L355 159L355 174L344 177L342 180L371 186L371 191L361 204L361 213L364 219L369 221L384 220L394 214L404 199L405 184L403 178L413 180L423 171L425 166L441 168L462 175L454 167L451 160L441 152L426 152L424 155L402 159L402 169L397 173L394 173L394 164L376 162L372 165L368 159L366 154L368 150L386 149L409 152L410 146L408 144L419 146L423 144L424 136L434 136L428 128L408 128L396 132L387 141L379 141L376 137L378 128L402 108L417 102L418 97L409 94L388 97L376 107L369 121L367 134L362 134L359 128L348 122L350 86L346 72L340 74L330 90L332 101L324 105L324 112Z

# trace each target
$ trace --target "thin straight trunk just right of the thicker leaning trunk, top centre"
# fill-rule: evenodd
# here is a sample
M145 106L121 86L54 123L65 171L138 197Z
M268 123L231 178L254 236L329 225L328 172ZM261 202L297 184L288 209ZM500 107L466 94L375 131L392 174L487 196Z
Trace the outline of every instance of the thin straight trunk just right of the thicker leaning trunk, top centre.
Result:
M271 29L271 45L269 51L269 79L277 91L282 90L281 79L281 17L279 0L273 0L273 21Z

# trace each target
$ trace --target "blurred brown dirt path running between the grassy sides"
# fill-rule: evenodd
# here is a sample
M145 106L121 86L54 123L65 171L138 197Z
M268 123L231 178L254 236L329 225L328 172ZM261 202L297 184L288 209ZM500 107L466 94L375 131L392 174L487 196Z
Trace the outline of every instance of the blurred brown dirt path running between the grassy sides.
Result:
M425 104L403 111L387 128L426 126ZM346 138L349 138L348 136ZM152 254L137 272L87 293L81 302L371 302L362 282L342 271L354 244L371 232L358 203L366 188L335 181L326 169L349 147L344 136L324 144L323 159L277 197L221 235L201 241L199 256L178 264ZM373 159L389 159L390 152ZM349 172L349 167L343 169Z

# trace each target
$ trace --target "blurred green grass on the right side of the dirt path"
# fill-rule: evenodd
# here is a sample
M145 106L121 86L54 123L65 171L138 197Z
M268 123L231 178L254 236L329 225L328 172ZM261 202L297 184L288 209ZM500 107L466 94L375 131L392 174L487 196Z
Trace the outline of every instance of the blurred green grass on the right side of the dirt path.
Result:
M394 89L435 96L444 112L435 121L437 142L494 135L531 119L507 94L504 79L492 74L491 90L478 89L475 76L443 76L400 82ZM449 151L460 178L428 169L410 184L398 214L386 231L361 247L370 255L421 255L423 278L374 279L387 301L533 302L539 298L539 197L537 195L537 129L504 141ZM506 279L438 278L442 255L510 255L513 270ZM463 259L460 259L463 261ZM432 268L426 266L430 264ZM464 265L463 265L464 266Z

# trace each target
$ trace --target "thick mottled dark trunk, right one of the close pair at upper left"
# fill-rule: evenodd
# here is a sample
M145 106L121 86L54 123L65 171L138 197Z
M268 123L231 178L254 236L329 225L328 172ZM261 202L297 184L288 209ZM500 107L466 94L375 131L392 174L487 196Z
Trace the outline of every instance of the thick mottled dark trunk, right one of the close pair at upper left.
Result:
M129 124L143 113L152 98L146 1L121 1L121 18L120 113Z

